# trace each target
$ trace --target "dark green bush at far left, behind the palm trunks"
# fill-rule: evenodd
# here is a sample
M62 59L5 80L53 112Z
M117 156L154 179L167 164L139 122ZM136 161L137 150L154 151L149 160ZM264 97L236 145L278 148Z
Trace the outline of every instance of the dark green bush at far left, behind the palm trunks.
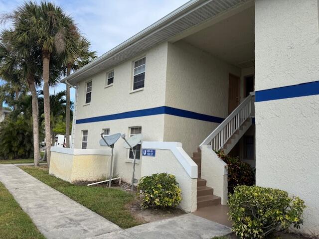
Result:
M22 117L0 123L0 157L4 159L33 156L32 124Z

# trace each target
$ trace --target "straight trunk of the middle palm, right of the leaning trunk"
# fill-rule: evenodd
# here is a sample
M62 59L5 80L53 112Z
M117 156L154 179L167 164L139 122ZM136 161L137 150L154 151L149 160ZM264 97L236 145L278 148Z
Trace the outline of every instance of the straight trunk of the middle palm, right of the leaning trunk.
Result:
M50 92L49 92L49 70L50 53L42 53L43 63L43 103L44 103L44 125L45 125L45 150L48 167L50 167L51 156L51 126L50 126Z

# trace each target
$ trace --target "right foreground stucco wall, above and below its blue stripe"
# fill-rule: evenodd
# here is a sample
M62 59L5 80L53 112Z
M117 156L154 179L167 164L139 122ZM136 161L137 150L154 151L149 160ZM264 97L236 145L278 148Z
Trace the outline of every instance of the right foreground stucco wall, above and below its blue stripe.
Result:
M257 91L319 80L318 4L256 0ZM319 96L257 102L255 114L256 184L305 200L301 230L318 238Z

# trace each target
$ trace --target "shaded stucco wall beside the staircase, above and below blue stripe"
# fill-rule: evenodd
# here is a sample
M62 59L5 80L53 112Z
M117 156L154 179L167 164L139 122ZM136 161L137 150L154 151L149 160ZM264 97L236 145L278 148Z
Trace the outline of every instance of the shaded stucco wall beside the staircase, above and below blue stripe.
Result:
M165 106L226 118L229 74L241 70L186 42L168 44ZM190 154L218 123L165 116L164 141L182 142Z

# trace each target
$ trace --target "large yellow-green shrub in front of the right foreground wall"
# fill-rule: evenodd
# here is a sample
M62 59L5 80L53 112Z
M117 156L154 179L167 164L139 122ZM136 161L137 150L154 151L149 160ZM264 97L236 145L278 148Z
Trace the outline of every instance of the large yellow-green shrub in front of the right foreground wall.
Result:
M241 239L262 239L303 224L304 201L279 189L238 186L229 196L228 206L232 230Z

